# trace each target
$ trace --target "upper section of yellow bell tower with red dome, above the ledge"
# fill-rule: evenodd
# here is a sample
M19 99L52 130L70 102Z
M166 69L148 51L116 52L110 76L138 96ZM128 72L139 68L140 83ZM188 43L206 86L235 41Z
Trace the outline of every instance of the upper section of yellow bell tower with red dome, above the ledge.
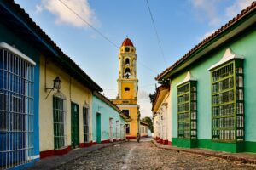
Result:
M119 99L137 100L137 54L136 48L129 38L126 38L119 48Z

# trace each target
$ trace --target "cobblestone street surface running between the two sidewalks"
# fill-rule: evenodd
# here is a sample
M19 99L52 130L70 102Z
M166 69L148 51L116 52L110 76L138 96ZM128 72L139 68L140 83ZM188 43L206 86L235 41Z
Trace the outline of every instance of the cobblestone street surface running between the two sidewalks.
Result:
M88 153L58 169L256 169L255 165L126 142Z

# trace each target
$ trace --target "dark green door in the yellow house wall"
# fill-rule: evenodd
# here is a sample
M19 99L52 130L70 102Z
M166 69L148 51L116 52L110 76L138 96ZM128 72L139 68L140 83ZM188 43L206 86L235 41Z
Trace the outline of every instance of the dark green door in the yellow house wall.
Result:
M79 147L79 105L71 103L71 146Z

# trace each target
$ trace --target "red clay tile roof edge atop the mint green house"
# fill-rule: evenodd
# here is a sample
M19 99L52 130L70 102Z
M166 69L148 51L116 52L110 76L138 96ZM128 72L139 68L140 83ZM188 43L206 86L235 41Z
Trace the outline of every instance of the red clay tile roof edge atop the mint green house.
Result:
M256 7L256 2L254 1L249 7L243 9L240 14L237 14L236 17L234 17L232 20L230 20L224 26L221 26L217 31L213 32L212 35L210 35L209 37L206 37L200 43L195 45L194 48L190 49L189 52L187 54L183 55L183 57L181 59L178 59L173 65L171 65L170 67L166 68L165 71L161 72L160 75L157 75L157 77L155 77L155 80L160 80L161 77L163 77L166 73L168 73L169 71L172 71L174 68L177 68L177 66L179 64L181 64L185 59L188 59L189 56L191 54L195 53L195 51L197 49L201 48L203 45L207 44L207 42L210 42L213 38L217 37L220 33L222 33L223 31L227 30L230 26L232 26L238 20L241 20L241 18L244 15L246 15L249 12L253 11L255 9L255 7Z

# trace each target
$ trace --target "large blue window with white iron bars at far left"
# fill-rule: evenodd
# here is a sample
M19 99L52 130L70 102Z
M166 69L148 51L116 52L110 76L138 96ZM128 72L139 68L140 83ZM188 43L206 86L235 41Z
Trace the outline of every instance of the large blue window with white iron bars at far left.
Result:
M34 156L34 66L16 48L0 42L0 167L11 168Z

